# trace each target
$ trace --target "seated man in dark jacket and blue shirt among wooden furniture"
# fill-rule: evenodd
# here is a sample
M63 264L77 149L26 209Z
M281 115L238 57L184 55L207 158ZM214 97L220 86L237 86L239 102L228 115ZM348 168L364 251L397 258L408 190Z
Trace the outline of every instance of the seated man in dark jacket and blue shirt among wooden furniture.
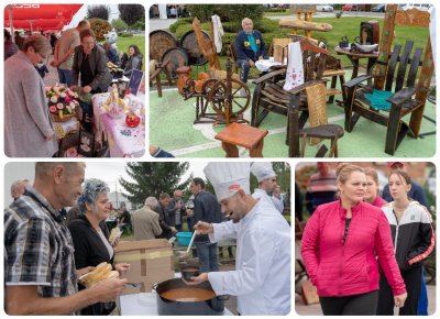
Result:
M248 81L249 69L255 66L255 62L266 56L266 45L263 35L253 30L253 22L244 18L241 22L243 31L235 37L237 66L241 68L240 80Z

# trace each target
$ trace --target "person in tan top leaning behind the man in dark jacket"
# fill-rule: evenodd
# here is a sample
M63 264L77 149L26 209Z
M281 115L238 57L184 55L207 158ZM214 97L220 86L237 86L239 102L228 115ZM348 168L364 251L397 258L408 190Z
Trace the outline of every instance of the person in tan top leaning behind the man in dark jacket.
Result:
M90 29L90 23L87 20L80 21L76 28L64 31L55 45L51 65L57 68L61 84L72 85L75 47L80 44L79 33L87 29Z

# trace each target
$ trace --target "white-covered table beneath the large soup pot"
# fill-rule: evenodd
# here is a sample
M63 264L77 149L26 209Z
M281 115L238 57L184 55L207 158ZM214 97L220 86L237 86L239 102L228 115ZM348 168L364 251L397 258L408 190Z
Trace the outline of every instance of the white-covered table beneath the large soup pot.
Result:
M158 316L156 298L155 292L120 296L118 302L119 315ZM228 308L224 308L224 316L233 316L233 314Z

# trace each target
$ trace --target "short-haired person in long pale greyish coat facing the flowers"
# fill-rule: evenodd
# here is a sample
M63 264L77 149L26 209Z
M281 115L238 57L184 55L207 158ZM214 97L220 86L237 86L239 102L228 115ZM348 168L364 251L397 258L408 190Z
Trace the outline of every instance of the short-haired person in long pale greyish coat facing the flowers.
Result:
M52 157L58 145L48 118L44 82L35 66L52 52L41 34L4 62L4 153L10 157Z

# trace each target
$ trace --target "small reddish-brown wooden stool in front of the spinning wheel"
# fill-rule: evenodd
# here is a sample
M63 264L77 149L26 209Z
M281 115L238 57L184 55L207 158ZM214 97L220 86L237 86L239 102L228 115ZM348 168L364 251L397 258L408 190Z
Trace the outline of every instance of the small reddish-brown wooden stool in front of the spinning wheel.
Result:
M239 157L239 148L237 146L249 150L250 157L263 157L264 136L267 133L267 130L234 122L215 138L221 141L221 146L227 152L227 157Z

